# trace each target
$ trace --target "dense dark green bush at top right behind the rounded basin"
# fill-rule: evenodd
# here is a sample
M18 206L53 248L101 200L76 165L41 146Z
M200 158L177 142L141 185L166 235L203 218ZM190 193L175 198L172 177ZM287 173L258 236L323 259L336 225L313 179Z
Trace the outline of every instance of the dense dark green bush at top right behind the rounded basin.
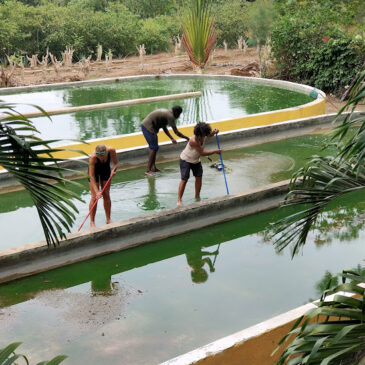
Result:
M354 3L357 3L356 1ZM278 2L272 55L279 75L340 92L365 61L365 40L352 34L353 7L344 1Z

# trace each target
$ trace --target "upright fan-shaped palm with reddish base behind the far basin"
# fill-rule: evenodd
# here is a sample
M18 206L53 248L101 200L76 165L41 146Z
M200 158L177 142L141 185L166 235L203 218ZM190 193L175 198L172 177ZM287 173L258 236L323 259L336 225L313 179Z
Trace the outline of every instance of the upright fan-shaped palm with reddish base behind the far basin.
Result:
M204 68L217 41L210 0L192 0L182 19L182 43L190 61Z

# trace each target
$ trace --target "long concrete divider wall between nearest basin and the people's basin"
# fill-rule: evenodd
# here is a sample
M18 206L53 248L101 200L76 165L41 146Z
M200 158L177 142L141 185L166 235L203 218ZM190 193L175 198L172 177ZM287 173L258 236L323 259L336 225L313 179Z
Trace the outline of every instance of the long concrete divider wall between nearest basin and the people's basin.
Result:
M285 180L234 195L72 233L56 247L47 247L45 241L40 241L1 250L0 282L278 207L288 192L288 185L289 180Z

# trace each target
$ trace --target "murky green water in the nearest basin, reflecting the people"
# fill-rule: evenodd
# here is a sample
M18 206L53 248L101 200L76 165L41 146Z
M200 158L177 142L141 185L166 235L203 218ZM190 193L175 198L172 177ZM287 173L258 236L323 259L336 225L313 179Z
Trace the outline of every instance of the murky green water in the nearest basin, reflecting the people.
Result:
M361 198L333 204L294 260L268 239L293 212L276 209L0 285L0 348L22 341L32 363L158 364L283 313L357 269Z

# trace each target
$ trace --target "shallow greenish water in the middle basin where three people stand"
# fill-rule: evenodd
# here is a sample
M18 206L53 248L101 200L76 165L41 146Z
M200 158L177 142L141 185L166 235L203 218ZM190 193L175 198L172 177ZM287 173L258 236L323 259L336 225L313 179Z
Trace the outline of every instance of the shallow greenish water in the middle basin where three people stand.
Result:
M235 194L290 178L312 154L320 154L321 147L327 142L328 137L325 135L310 135L224 152L230 193ZM208 146L207 149L209 148ZM330 152L331 149L326 153ZM217 159L217 156L213 158ZM224 196L226 190L222 172L210 168L211 162L206 158L202 157L201 160L204 169L201 198ZM152 179L144 175L145 167L118 172L112 180L110 193L114 221L176 207L180 182L179 162L163 163L159 167L161 173ZM77 230L89 211L89 186L86 179L80 180L80 183L80 188L70 186L84 199L84 203L74 200L79 214L73 231ZM190 204L194 201L194 178L191 177L183 203ZM22 229L14 229L20 222ZM105 224L102 204L99 204L96 213L96 224ZM88 229L88 225L89 222L86 222L83 229ZM0 249L44 239L36 209L26 191L0 194L0 231Z

